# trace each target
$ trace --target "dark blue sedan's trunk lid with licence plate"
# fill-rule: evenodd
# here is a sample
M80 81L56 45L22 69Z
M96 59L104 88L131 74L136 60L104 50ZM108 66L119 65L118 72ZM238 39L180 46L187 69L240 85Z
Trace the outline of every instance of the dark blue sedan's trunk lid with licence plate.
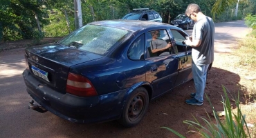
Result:
M65 93L69 68L79 63L100 59L102 56L51 43L27 48L25 57L34 77L47 86Z

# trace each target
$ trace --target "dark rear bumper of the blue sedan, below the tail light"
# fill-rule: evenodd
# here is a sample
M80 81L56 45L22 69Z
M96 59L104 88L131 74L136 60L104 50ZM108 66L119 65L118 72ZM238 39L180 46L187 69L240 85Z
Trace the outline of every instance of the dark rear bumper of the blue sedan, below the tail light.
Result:
M97 97L77 97L57 92L37 81L28 70L23 72L28 94L46 110L77 123L95 123L118 119L127 90Z

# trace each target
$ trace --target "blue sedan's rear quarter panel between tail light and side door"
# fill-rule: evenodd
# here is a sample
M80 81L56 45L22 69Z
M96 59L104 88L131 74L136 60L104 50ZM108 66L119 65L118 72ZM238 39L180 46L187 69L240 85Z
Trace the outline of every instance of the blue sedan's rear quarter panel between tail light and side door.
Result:
M106 57L72 66L70 72L88 78L98 95L131 88L145 81L145 61L133 61L127 57L129 46L139 35L131 35Z

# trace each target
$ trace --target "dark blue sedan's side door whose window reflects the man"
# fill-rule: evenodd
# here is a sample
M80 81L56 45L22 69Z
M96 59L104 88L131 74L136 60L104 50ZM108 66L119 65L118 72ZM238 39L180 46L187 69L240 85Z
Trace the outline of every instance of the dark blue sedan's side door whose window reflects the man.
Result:
M169 55L158 55L150 52L153 31L154 30L146 32L147 58L145 59L145 70L146 81L151 83L154 88L152 97L157 97L174 87L179 72L179 57L177 57L176 53L172 52L170 52ZM170 41L174 43L174 41L170 39L167 30L158 31L160 32L158 39L166 41L166 43Z

